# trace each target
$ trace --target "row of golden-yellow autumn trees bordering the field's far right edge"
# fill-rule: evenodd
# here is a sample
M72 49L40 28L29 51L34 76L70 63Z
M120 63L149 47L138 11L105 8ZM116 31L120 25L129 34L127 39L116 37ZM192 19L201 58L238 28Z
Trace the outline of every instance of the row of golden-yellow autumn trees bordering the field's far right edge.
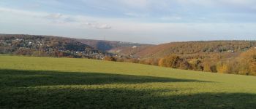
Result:
M256 48L241 53L207 53L194 55L171 54L162 58L105 57L104 60L157 65L167 68L199 70L212 73L232 73L256 76Z

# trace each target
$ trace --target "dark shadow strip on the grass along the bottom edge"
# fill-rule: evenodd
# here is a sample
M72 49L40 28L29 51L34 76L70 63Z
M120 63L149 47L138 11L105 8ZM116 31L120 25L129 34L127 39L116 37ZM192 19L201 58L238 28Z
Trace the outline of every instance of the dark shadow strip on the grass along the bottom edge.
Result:
M256 94L159 95L161 90L21 89L1 92L0 108L255 108ZM170 91L171 92L171 91Z

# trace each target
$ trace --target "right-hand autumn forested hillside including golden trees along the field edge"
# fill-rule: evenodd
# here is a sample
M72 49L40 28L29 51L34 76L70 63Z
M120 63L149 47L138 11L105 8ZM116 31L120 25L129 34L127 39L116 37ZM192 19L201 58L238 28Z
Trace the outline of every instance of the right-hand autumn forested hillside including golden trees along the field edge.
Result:
M140 57L137 62L148 65L256 76L256 41L173 42L146 47L133 55Z

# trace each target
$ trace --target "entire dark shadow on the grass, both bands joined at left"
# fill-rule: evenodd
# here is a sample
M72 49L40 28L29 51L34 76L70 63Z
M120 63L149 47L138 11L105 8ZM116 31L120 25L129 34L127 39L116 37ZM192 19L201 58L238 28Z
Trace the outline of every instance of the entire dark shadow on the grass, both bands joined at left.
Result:
M206 82L106 73L0 70L0 108L255 108L256 94L59 85ZM42 86L42 87L40 87ZM165 94L165 95L163 95Z

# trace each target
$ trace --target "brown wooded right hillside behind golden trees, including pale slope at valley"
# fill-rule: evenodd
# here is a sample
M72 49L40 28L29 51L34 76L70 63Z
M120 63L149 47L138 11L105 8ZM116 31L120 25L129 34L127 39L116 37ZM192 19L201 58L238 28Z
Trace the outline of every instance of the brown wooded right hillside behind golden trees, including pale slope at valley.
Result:
M241 54L241 52L246 52L253 47L256 47L256 41L185 41L159 45L140 44L137 47L113 47L113 49L108 50L108 52L121 55L133 55L142 59L162 58L172 54L184 57L213 54L230 54L237 56Z

